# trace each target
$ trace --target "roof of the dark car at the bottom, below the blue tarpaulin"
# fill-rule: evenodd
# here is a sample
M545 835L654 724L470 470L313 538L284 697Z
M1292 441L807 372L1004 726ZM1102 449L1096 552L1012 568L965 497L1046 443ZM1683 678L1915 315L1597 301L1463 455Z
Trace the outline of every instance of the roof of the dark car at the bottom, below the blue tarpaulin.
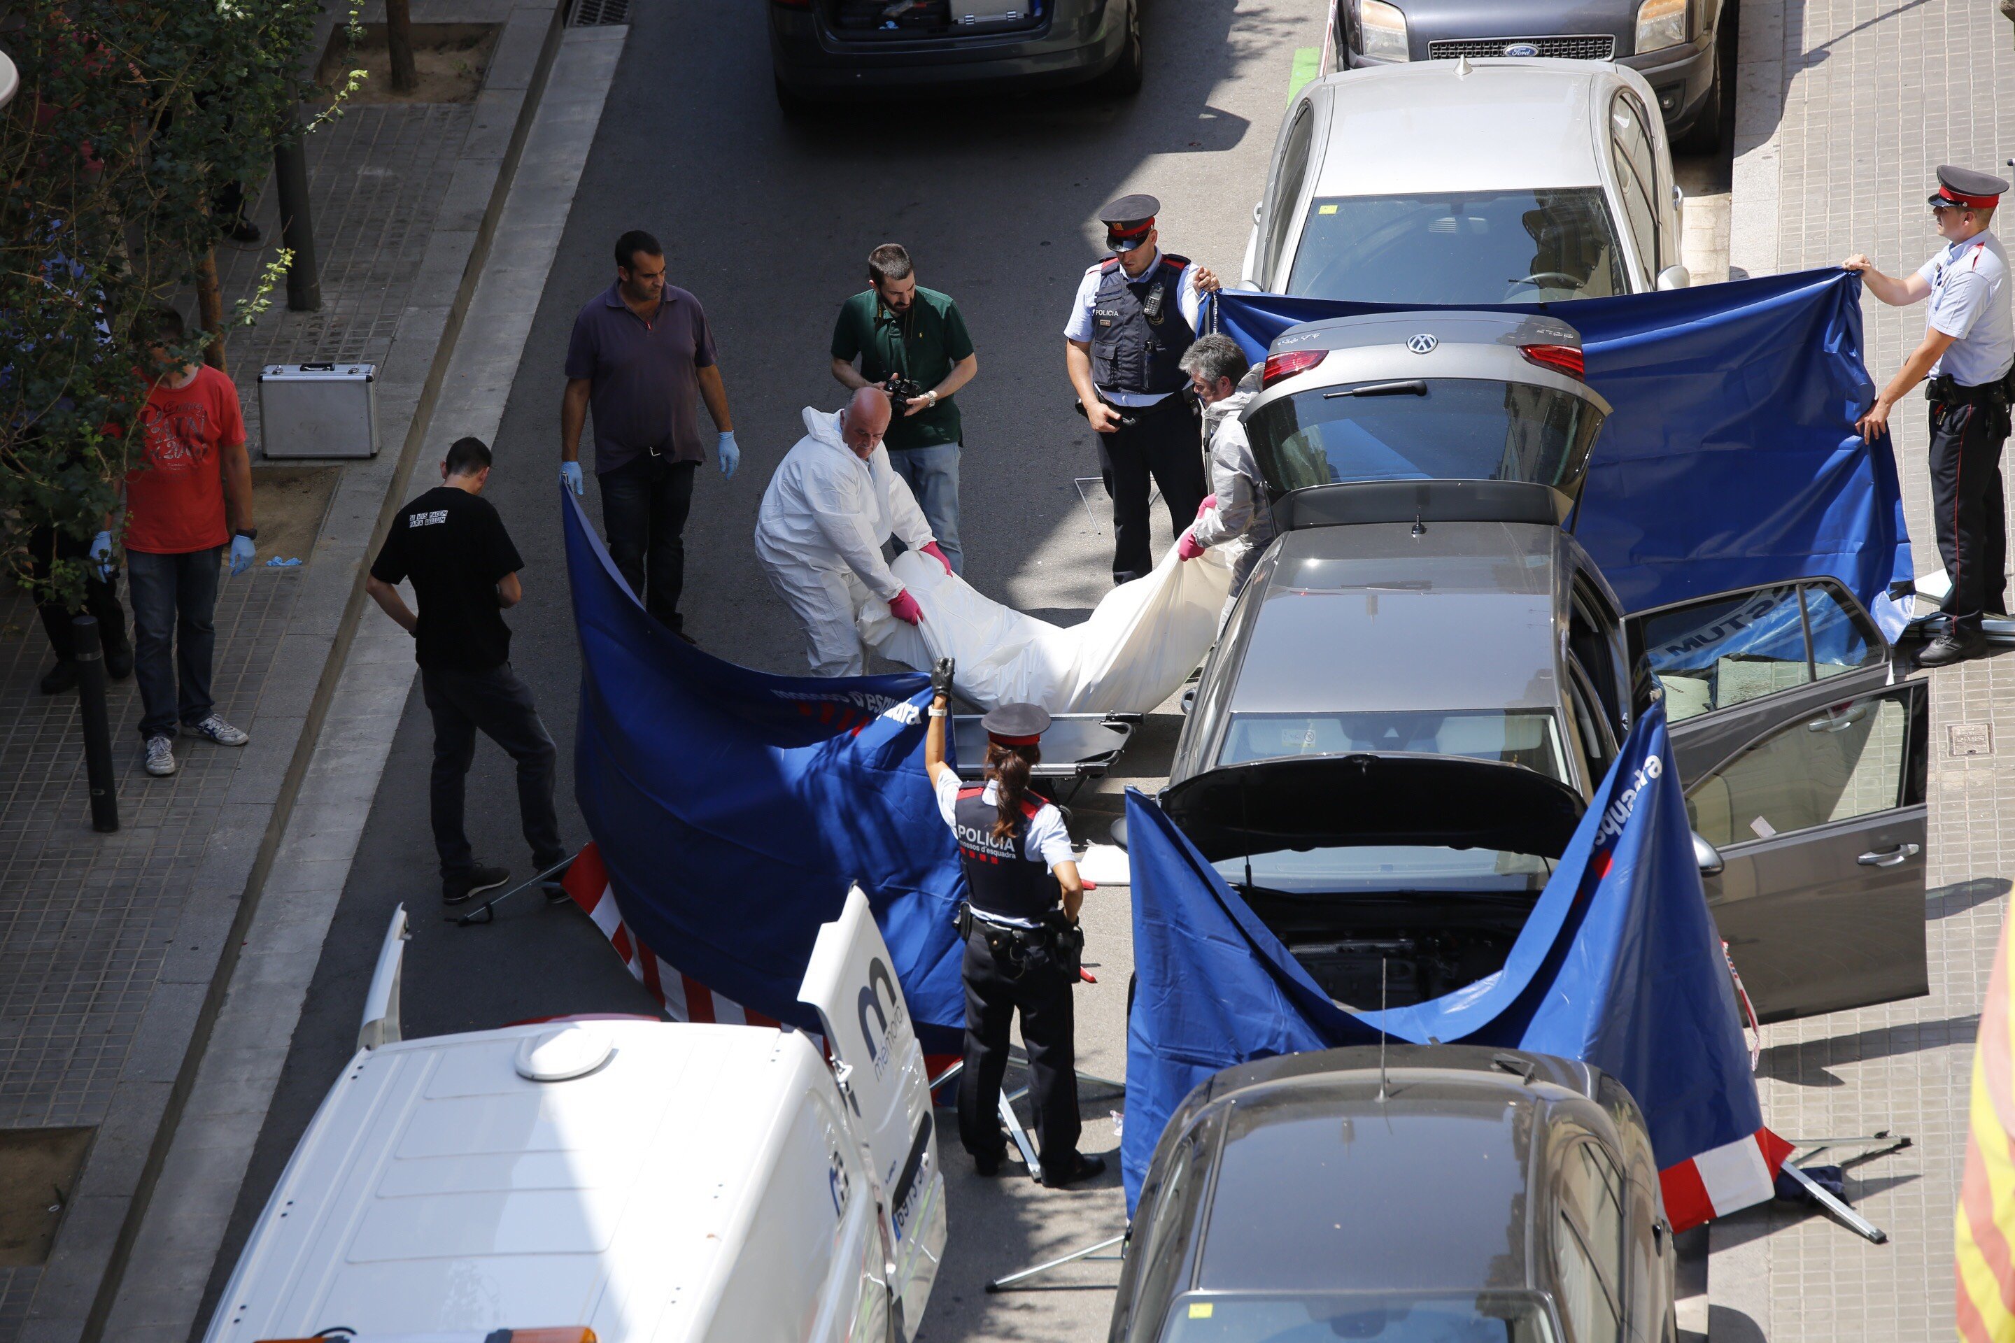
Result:
M1596 1077L1455 1045L1394 1045L1384 1067L1352 1047L1219 1073L1191 1115L1223 1126L1195 1289L1537 1287L1550 1126L1614 1144Z

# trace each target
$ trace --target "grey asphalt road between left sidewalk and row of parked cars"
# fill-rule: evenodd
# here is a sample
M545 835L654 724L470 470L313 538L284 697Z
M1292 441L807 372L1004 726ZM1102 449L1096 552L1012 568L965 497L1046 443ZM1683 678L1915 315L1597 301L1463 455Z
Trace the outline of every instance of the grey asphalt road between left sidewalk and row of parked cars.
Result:
M1322 40L1320 0L1149 0L1147 89L842 111L786 125L770 91L760 4L637 6L560 258L496 443L488 497L518 550L526 600L510 612L512 662L562 747L568 844L578 650L556 507L558 401L566 334L613 278L611 246L645 228L665 242L669 280L707 310L733 405L742 469L703 467L687 528L687 630L748 666L802 673L798 630L756 568L750 534L770 471L800 437L800 409L842 393L826 346L842 298L864 288L866 254L903 242L925 286L965 312L979 377L959 395L965 576L1024 610L1082 618L1110 586L1110 521L1080 503L1096 451L1070 411L1062 324L1098 260L1098 205L1128 191L1163 201L1163 246L1235 278L1251 207L1286 107L1296 48ZM431 463L419 477L431 477ZM592 475L590 475L592 481ZM1094 501L1096 485L1094 485ZM600 515L594 487L590 515ZM1169 536L1157 526L1159 544ZM377 618L367 614L367 618ZM1173 719L1143 733L1122 773L1155 783ZM415 687L330 928L280 1091L212 1279L212 1301L316 1103L349 1059L373 956L395 904L413 914L405 960L407 1037L526 1017L653 1011L600 934L570 906L520 896L482 928L439 914L427 830L431 729ZM1080 830L1102 830L1116 789L1086 799ZM469 779L478 856L524 876L510 761L490 745ZM1102 836L1100 836L1102 838ZM1088 1071L1124 1071L1128 912L1124 892L1086 906L1088 960L1078 1041ZM1116 1152L1110 1091L1086 1089L1088 1152ZM1024 1178L979 1180L947 1152L951 1246L923 1321L929 1339L1102 1339L1114 1264L1056 1275L1048 1291L987 1297L985 1279L1124 1224L1118 1162L1092 1188L1050 1192ZM206 1307L208 1319L208 1307ZM534 1321L550 1323L550 1321ZM197 1329L199 1333L202 1329Z

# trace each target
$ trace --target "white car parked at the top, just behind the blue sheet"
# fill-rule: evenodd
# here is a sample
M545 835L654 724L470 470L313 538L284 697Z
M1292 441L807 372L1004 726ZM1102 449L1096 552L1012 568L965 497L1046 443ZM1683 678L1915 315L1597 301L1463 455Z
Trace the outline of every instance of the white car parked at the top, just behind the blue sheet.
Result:
M1650 85L1606 60L1346 70L1294 99L1241 286L1394 304L1685 288Z

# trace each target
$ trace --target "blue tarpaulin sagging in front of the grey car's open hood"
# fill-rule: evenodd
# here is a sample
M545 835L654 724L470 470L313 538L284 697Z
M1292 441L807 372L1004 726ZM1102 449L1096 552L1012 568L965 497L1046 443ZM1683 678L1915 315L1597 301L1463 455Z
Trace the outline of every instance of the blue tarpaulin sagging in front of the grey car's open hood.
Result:
M1126 838L1138 975L1120 1144L1128 1208L1169 1115L1199 1081L1251 1059L1374 1043L1380 1031L1594 1063L1644 1109L1660 1170L1763 1124L1662 705L1632 729L1505 966L1429 1003L1340 1009L1134 789Z

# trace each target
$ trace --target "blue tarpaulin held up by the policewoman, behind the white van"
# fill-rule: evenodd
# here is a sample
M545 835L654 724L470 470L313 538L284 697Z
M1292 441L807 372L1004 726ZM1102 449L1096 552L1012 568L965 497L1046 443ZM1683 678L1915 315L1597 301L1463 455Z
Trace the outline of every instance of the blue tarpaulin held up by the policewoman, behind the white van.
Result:
M925 1047L965 1025L959 850L923 769L929 679L770 677L645 614L560 491L580 632L574 795L617 908L667 964L818 1031L818 926L858 882Z

